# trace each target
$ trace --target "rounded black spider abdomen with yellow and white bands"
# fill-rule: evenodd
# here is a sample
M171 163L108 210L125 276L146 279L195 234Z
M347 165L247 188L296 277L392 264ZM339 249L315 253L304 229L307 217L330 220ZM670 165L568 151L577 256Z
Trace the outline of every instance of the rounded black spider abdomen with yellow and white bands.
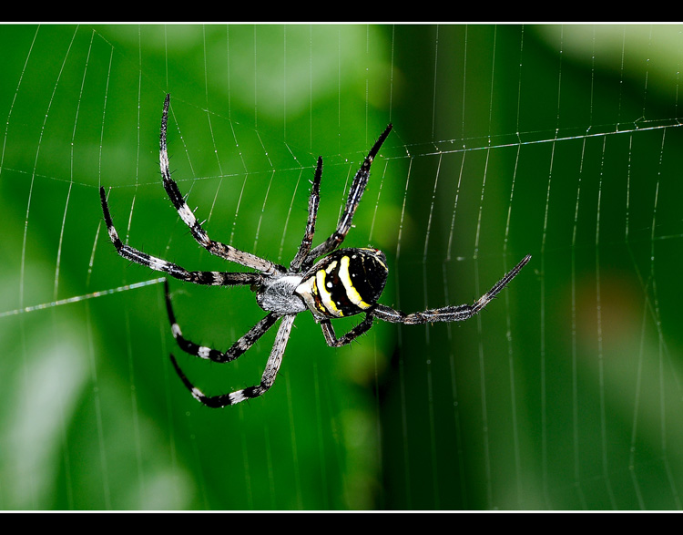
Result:
M296 293L319 320L360 314L377 303L388 271L382 251L339 249L313 266Z

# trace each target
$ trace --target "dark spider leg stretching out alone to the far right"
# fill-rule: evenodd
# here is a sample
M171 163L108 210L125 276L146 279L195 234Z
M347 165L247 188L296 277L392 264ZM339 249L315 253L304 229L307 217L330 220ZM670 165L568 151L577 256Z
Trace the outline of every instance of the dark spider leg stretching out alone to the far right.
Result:
M427 324L433 322L462 322L474 316L481 311L486 304L488 304L505 286L512 281L517 273L526 265L526 262L531 260L531 255L527 254L522 262L519 262L510 270L500 281L494 284L493 288L484 293L474 304L460 304L457 306L444 306L443 308L434 308L425 310L423 312L415 312L413 314L405 314L399 310L394 310L389 306L378 304L372 312L373 316L391 322L393 324Z

